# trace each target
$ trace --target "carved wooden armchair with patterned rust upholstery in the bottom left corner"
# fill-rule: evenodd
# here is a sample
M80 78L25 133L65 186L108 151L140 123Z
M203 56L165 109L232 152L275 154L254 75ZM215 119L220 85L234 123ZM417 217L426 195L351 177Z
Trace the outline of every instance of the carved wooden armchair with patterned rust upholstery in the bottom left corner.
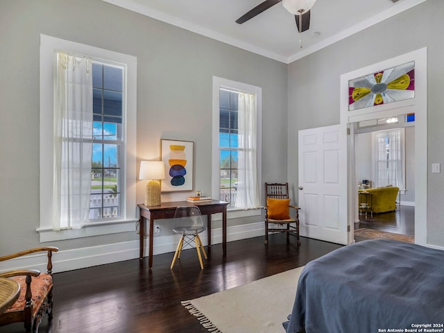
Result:
M32 248L0 257L0 262L41 251L46 251L48 255L47 273L40 273L35 269L17 269L0 273L0 277L16 280L20 284L20 296L9 309L0 314L0 326L23 322L26 332L37 332L45 314L48 314L49 319L52 318L53 264L51 257L58 248L53 246Z

